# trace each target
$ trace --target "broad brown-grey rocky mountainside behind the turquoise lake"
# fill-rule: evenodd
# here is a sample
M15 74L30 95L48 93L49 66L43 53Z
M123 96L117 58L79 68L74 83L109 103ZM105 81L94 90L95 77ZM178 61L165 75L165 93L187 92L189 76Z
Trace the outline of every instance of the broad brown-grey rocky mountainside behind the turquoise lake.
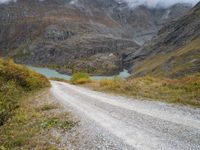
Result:
M139 49L163 23L190 8L179 4L166 9L131 9L115 0L0 4L0 53L19 63L67 73L114 74L122 69L122 60L130 51Z

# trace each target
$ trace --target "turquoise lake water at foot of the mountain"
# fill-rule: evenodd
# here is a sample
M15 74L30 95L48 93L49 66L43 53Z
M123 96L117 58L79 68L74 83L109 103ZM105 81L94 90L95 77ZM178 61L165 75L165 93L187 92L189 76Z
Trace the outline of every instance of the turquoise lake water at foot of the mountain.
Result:
M65 80L71 79L71 76L61 74L61 73L57 72L56 70L52 70L52 69L48 69L48 68L32 67L32 66L28 66L28 68L34 70L35 72L37 72L39 74L46 76L47 78L61 78L61 79L65 79ZM119 76L122 79L125 79L125 78L128 78L130 76L130 74L128 73L127 70L124 69L117 76ZM101 79L112 79L114 77L115 76L92 76L91 79L101 80Z

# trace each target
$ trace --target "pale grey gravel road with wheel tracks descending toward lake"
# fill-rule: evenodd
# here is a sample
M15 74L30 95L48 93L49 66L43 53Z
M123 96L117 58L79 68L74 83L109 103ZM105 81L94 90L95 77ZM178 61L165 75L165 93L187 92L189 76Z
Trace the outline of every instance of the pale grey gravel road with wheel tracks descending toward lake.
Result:
M200 149L200 109L51 84L56 99L81 120L82 138L72 149Z

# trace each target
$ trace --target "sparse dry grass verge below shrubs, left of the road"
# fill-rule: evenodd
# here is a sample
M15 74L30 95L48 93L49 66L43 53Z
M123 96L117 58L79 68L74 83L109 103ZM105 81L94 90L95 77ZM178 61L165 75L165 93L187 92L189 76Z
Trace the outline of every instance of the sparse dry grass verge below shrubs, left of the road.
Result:
M51 98L48 89L26 94L13 117L0 126L0 150L58 149L61 141L51 131L64 134L75 123L72 115Z

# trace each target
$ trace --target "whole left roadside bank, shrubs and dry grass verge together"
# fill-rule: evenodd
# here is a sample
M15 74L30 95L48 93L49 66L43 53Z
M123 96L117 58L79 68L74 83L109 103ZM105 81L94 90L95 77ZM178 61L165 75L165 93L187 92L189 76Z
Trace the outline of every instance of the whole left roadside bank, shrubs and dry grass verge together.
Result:
M56 102L49 86L44 76L0 59L0 150L68 149L58 136L76 122Z

